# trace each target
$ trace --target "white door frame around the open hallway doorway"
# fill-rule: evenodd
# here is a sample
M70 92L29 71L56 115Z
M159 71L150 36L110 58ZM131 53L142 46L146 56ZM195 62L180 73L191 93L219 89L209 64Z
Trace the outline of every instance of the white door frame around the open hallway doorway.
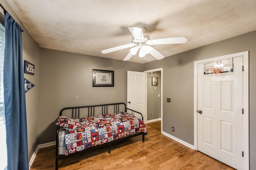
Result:
M163 68L158 68L158 69L152 69L152 70L147 70L147 71L144 71L145 73L150 73L150 72L156 72L156 71L161 71L161 133L162 133L162 130L163 130ZM148 78L146 76L146 102L145 102L145 107L146 107L146 122L147 122L147 91L148 91L148 87L147 87L147 84L148 84Z

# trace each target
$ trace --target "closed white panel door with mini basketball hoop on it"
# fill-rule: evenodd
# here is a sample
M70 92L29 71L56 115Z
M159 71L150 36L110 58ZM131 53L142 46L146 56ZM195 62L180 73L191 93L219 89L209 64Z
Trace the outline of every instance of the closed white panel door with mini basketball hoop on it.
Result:
M243 169L243 57L231 73L204 75L198 64L198 150Z

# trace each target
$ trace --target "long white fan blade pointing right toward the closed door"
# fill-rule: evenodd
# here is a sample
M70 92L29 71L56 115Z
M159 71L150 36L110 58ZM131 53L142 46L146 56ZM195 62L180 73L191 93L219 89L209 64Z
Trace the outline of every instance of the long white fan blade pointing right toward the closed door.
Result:
M186 43L188 39L186 37L173 37L173 38L161 38L155 40L148 40L146 44L148 45L158 45L158 44L173 44L173 43Z

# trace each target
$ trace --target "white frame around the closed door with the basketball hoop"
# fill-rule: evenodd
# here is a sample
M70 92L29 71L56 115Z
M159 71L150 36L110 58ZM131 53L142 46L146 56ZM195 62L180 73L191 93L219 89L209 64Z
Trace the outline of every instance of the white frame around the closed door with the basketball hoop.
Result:
M194 150L198 150L197 134L197 65L199 63L223 60L231 57L243 56L243 133L244 133L244 170L249 169L249 51L194 61ZM242 114L242 113L241 113ZM242 154L242 153L241 153Z

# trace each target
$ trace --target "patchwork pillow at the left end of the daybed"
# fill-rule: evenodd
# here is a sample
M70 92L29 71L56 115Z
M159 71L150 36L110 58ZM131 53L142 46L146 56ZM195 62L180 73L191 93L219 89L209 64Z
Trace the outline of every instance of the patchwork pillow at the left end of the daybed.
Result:
M64 116L58 117L56 121L56 125L68 130L81 128L80 119L73 119L73 118L64 117Z

